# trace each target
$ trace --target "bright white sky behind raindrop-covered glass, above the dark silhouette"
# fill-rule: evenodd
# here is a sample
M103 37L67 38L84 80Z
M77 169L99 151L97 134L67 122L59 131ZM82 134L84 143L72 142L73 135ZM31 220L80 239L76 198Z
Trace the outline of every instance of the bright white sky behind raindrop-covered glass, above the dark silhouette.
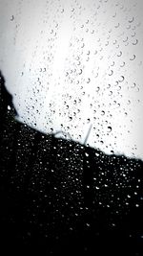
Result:
M0 0L0 69L20 121L143 159L142 13L141 0Z

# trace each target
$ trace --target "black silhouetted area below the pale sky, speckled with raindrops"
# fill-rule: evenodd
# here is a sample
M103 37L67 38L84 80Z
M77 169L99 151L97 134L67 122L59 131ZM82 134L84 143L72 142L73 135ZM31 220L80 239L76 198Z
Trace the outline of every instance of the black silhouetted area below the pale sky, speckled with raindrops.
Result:
M14 119L0 74L1 255L143 255L143 162Z

